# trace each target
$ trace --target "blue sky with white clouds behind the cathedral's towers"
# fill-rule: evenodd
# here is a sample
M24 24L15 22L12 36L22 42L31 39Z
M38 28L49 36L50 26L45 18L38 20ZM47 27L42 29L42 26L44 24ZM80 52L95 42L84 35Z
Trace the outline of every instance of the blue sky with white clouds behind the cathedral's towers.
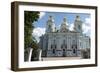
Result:
M55 26L59 29L60 25L63 21L63 18L66 17L67 19L67 25L69 26L69 30L73 30L74 27L74 20L75 17L79 15L80 19L82 20L82 29L83 34L90 36L90 21L91 17L90 14L84 14L84 13L62 13L62 12L40 12L38 21L34 22L35 29L33 30L32 35L36 37L37 41L39 42L39 37L43 34L45 34L46 30L46 22L49 18L49 16L53 16Z

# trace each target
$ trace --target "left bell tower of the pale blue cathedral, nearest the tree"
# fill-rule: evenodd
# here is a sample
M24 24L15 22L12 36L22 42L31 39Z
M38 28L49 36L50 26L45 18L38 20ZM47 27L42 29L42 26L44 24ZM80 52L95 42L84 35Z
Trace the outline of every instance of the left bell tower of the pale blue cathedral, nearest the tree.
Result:
M49 19L47 20L46 32L55 32L55 24L53 16L49 16Z

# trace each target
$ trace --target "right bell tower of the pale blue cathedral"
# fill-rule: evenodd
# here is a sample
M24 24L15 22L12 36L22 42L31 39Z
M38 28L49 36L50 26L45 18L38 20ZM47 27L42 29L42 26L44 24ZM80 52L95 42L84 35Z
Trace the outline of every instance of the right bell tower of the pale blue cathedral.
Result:
M80 16L76 16L74 21L74 31L79 32L82 34L82 21Z

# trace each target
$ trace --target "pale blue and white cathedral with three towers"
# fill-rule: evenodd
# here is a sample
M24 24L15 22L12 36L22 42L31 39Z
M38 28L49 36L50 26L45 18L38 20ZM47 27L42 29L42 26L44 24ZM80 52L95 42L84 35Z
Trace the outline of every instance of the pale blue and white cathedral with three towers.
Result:
M46 33L40 37L43 57L81 57L81 50L90 49L90 37L82 32L82 20L76 16L73 30L64 17L57 29L53 16L46 21Z

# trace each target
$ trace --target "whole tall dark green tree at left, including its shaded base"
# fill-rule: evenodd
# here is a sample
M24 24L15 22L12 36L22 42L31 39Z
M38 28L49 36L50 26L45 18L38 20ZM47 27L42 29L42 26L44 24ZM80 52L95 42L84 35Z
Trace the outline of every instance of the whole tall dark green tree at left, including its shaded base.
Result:
M39 12L37 11L25 11L24 12L24 61L27 61L29 58L29 48L36 49L37 42L32 36L32 31L34 29L34 22L39 18ZM34 39L34 40L33 40ZM33 47L34 46L34 47Z

